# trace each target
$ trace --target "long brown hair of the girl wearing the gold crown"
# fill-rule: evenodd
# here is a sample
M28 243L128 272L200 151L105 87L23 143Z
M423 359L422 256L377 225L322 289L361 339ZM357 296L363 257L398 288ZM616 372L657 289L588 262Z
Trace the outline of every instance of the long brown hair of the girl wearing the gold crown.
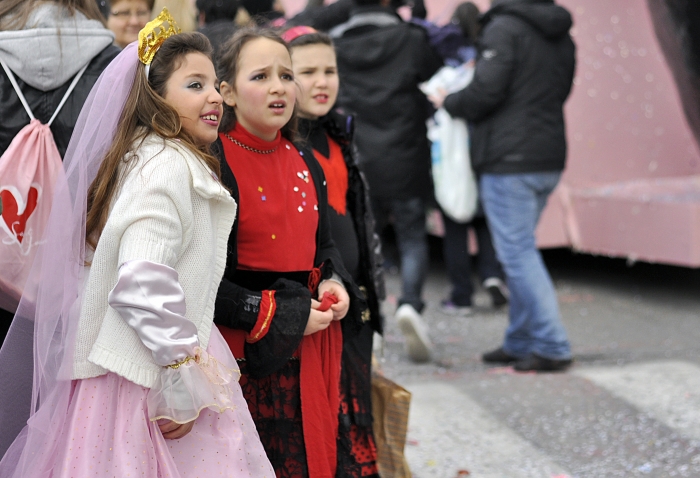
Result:
M97 246L107 222L109 206L119 187L120 166L131 162L134 144L140 144L149 134L179 139L181 145L192 151L217 176L221 175L219 161L211 154L209 145L197 145L192 135L182 129L175 108L164 99L168 79L188 53L202 53L211 59L211 43L201 33L174 35L163 42L153 57L148 78L143 63L139 62L136 67L134 84L124 104L114 141L88 190L85 238L93 249Z

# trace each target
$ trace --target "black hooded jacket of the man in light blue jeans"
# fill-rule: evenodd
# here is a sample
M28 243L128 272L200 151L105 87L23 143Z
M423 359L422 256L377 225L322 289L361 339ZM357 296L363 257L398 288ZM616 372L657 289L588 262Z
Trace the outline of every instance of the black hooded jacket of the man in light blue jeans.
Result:
M474 80L444 103L474 125L472 167L492 174L561 171L563 105L575 68L571 15L552 0L504 0L482 23Z

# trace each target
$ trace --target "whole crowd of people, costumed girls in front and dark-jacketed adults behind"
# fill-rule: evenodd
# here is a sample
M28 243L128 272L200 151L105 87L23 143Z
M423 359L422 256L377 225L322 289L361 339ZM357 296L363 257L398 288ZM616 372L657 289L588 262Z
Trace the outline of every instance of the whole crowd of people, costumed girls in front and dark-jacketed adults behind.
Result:
M183 33L158 5L0 6L0 171L35 118L64 170L21 299L0 282L0 477L380 476L380 238L393 229L407 354L429 361L436 108L469 124L481 199L466 223L443 215L440 310L471 313L473 229L482 287L510 302L483 361L571 364L534 240L566 157L563 7L467 2L438 26L422 2L409 20L396 0L285 19L276 2L197 0ZM464 90L421 92L463 63ZM19 222L2 216L0 244L20 245L32 209L4 179Z

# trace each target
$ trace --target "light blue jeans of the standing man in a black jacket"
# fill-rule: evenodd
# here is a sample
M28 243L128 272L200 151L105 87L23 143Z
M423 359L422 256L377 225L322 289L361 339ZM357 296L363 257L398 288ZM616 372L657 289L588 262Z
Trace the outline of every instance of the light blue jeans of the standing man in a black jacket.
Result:
M503 350L513 357L532 353L571 358L552 279L535 245L535 228L561 173L484 174L481 200L496 254L510 289L510 324Z

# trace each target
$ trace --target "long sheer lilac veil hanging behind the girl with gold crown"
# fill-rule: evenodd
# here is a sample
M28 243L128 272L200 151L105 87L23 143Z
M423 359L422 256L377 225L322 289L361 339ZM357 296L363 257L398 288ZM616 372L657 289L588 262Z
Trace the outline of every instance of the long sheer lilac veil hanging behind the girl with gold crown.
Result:
M112 144L138 64L134 42L104 70L83 105L65 155L65 176L56 185L45 242L0 349L2 478L50 473L43 457L55 453L72 392L86 272L87 192Z

